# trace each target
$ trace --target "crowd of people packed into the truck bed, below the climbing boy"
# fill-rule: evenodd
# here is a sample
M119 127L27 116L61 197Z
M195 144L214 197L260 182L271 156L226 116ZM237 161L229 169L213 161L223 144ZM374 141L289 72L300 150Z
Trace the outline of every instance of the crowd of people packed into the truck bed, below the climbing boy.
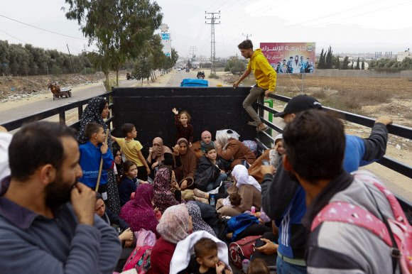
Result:
M372 199L362 188L372 175L349 172L384 155L389 117L362 139L345 135L313 97L298 96L278 114L287 124L283 135L256 159L236 135L193 136L190 114L173 113L171 148L161 136L144 148L133 124L112 136L102 97L88 103L77 136L49 122L23 126L9 146L11 176L1 181L1 270L232 273L227 245L254 236L247 273L392 271L391 257L381 255L389 246L362 228L330 221L310 227L334 197L361 206ZM383 194L373 192L393 218ZM375 212L373 203L364 208ZM334 234L339 228L347 235ZM345 238L356 233L374 242L356 243L363 256Z

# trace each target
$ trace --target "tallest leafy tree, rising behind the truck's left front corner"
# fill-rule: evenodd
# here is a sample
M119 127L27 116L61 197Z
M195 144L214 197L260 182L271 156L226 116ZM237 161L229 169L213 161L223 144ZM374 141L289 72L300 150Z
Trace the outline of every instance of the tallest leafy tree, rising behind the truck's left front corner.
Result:
M99 62L106 75L109 88L109 71L119 68L127 58L137 57L146 40L161 25L161 7L150 0L65 0L70 7L66 18L77 20L89 43L96 42Z

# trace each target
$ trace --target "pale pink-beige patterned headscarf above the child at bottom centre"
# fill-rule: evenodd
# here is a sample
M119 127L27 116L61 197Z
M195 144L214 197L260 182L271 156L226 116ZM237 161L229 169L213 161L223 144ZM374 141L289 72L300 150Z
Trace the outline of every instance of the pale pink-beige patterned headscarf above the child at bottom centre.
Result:
M188 209L183 204L176 205L166 209L156 229L169 243L178 243L190 234L189 220Z

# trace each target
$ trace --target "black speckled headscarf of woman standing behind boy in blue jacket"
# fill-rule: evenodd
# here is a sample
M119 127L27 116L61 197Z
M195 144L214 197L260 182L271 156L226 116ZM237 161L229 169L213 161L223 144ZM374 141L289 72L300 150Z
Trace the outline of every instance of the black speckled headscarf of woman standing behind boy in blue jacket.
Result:
M104 106L106 106L107 101L103 97L93 97L87 102L87 106L82 114L82 119L80 120L79 132L77 133L77 141L80 145L87 143L87 138L85 136L85 129L87 124L97 123L103 126L104 131L107 131L107 125L104 123L102 118L102 111ZM102 107L103 106L103 107ZM107 138L107 145L112 150L112 136L109 133Z

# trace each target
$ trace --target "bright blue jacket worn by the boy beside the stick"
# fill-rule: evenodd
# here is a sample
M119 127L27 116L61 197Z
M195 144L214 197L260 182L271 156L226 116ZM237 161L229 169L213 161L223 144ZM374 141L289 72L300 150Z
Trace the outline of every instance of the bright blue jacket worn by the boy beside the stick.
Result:
M80 150L80 166L83 170L83 177L79 182L87 185L87 187L96 187L97 177L99 176L100 160L103 158L102 175L99 185L107 183L107 170L113 168L114 160L112 152L107 148L107 153L102 154L100 148L102 144L95 147L90 141L79 146Z

